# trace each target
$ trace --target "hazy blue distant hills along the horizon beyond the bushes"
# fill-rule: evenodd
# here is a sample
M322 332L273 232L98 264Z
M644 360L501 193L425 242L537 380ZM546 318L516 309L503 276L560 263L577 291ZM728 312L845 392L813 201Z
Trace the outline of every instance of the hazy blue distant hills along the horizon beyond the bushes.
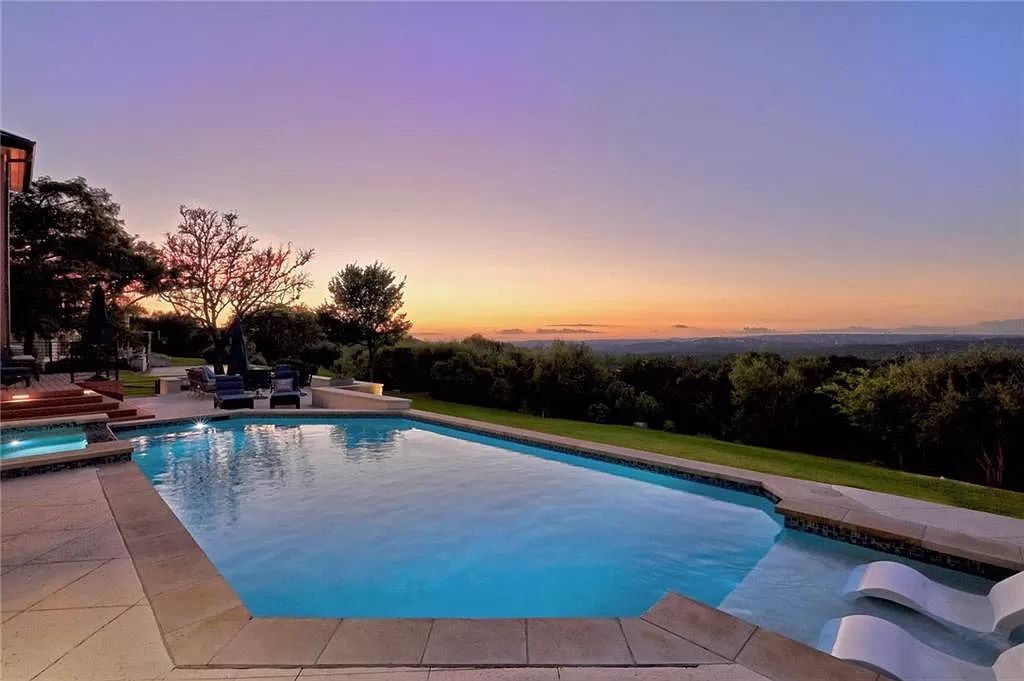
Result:
M879 358L899 354L941 354L985 345L1024 351L1024 336L963 334L814 333L723 336L649 340L587 339L603 354L663 354L720 357L734 352L778 352L783 356L849 354ZM542 347L551 341L521 341L524 347Z

